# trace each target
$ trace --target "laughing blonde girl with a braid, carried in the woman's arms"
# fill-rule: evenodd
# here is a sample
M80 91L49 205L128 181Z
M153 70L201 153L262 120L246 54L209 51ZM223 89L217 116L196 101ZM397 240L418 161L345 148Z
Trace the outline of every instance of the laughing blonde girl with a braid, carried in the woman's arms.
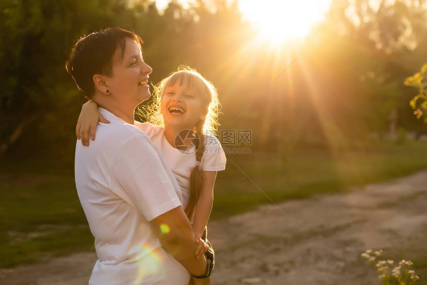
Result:
M135 122L135 126L145 132L162 153L181 188L182 206L193 224L196 238L199 241L202 237L209 244L206 224L213 205L216 172L225 169L226 161L214 137L218 126L218 94L214 85L196 70L180 66L155 86L153 99L153 106L145 112L148 122ZM82 107L76 135L83 145L89 144L89 132L92 140L95 139L98 120L108 123L97 107L94 102ZM203 251L203 246L198 246L196 255ZM211 249L206 255L213 259ZM197 284L198 280L193 278L193 282Z

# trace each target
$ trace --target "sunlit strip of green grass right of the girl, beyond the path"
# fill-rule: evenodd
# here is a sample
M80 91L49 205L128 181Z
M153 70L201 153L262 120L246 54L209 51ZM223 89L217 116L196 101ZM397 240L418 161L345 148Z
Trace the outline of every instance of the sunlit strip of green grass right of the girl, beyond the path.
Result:
M296 150L287 155L228 155L227 159L226 170L218 173L215 183L214 219L271 203L263 192L281 202L409 175L427 168L427 142L384 143L371 150L335 154Z

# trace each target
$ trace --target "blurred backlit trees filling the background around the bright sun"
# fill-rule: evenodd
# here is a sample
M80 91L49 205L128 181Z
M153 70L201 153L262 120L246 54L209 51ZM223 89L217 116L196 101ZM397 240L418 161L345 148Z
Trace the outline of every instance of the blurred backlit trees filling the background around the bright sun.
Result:
M85 100L65 61L80 36L113 26L141 35L152 83L179 64L213 81L222 128L251 129L255 148L340 150L391 129L423 134L409 105L417 92L403 82L427 59L425 0L379 2L334 0L305 40L272 47L236 1L159 11L149 0L2 0L0 155L72 162Z

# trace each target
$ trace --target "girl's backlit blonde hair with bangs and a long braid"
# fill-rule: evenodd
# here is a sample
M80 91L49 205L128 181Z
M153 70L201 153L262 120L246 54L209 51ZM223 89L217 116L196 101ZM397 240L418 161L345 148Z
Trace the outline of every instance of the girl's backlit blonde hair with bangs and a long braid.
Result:
M205 134L216 135L218 129L218 115L219 115L219 99L218 93L214 84L207 80L195 69L187 66L179 66L176 71L173 71L166 78L161 80L154 86L153 90L153 104L143 111L142 116L146 121L164 128L164 120L161 115L161 98L164 95L165 89L174 84L186 84L188 89L195 89L197 95L203 96L205 102L206 117L204 120L199 121L194 127L194 132L199 138L199 145L196 147L196 161L202 161L203 153L205 152ZM190 174L190 201L185 208L185 213L189 218L194 213L194 208L200 196L202 188L202 169L201 166L195 166Z

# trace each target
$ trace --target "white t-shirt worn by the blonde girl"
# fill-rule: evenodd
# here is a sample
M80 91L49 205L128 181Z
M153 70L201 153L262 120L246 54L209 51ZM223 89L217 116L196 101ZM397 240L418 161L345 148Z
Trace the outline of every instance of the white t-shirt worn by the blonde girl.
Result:
M164 136L162 127L140 122L135 122L135 126L147 134L160 150L166 165L172 170L181 188L182 207L185 209L190 199L190 173L196 166L196 153L194 151L184 152L170 145ZM201 161L202 171L224 170L225 162L225 153L218 139L207 135L205 137L205 152Z

